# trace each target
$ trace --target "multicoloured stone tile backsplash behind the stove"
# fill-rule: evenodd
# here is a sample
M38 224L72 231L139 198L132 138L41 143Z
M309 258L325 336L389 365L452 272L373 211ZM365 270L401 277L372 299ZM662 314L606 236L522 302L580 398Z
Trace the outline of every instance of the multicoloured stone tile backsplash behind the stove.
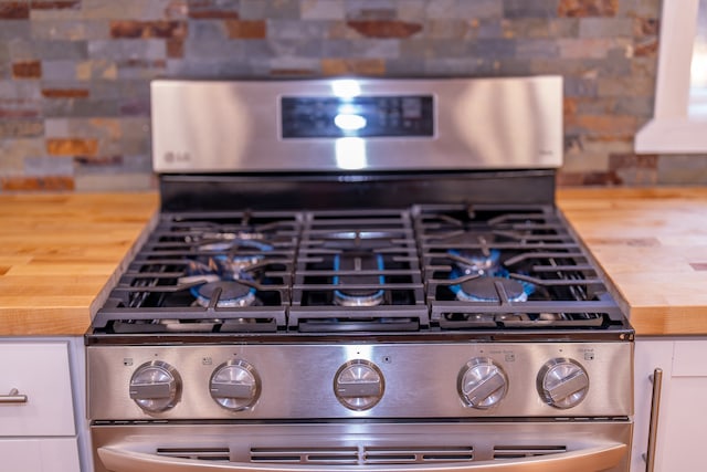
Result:
M155 187L156 76L566 78L560 185L705 183L635 156L659 0L0 0L0 191Z

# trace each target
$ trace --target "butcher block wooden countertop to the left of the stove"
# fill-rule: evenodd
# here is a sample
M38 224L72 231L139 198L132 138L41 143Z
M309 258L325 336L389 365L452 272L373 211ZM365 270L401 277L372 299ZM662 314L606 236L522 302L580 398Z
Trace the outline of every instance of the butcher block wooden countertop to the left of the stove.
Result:
M0 336L83 335L155 193L0 195Z

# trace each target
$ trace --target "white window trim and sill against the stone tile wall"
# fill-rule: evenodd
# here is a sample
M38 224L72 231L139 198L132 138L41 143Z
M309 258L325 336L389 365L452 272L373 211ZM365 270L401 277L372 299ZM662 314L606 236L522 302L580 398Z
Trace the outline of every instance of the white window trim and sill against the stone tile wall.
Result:
M655 109L636 134L637 154L707 151L707 119L688 114L698 8L699 0L663 1Z

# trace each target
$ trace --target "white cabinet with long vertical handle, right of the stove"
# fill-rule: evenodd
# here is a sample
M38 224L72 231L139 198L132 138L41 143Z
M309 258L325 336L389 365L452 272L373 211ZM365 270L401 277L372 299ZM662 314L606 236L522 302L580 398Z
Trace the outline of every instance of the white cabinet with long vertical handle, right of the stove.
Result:
M707 438L707 338L639 338L635 361L635 429L632 472L645 471L643 454L656 368L663 370L655 471L703 470Z

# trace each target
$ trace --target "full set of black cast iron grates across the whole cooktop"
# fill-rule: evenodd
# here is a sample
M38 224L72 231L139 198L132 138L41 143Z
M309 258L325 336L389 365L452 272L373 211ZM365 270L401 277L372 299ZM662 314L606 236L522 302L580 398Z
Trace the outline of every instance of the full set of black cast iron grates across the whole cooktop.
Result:
M105 333L605 329L623 316L552 206L165 213Z

